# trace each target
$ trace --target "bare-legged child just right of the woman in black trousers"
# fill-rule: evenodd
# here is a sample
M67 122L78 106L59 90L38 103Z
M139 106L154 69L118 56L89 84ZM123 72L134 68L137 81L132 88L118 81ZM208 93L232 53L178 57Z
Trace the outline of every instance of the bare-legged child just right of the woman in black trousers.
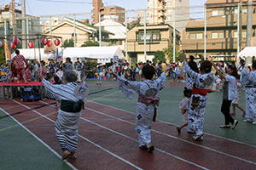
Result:
M235 88L235 97L232 100L232 113L230 115L236 115L236 107L242 111L242 116L245 116L246 111L244 111L239 104L239 99L241 95L241 82L240 82L240 76L238 75L236 77L236 88Z

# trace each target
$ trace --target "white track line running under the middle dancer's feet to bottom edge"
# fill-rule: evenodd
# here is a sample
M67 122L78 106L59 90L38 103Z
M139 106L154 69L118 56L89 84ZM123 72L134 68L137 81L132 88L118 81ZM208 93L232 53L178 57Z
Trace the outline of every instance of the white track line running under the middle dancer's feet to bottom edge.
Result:
M46 102L42 102L42 103L45 103L45 104L47 105ZM49 106L54 107L53 105L49 105ZM87 108L86 108L86 109L87 109ZM89 110L90 110L90 109L89 109ZM90 111L94 111L94 110L90 110ZM113 118L114 118L114 119L117 119L116 117L113 117ZM96 126L98 126L98 127L102 127L102 128L104 128L104 129L106 129L106 130L112 132L112 133L119 134L120 136L123 136L123 137L125 137L125 138L127 138L127 139L131 139L132 141L138 142L137 139L133 139L133 138L131 138L130 136L127 136L127 135L125 135L125 134L123 134L123 133L119 133L119 132L114 131L113 129L110 129L110 128L108 128L108 127L104 127L104 126L102 126L102 125L100 125L100 124L98 124L98 123L96 123L96 122L91 122L90 120L85 119L84 117L80 117L80 119L82 119L82 120L84 120L84 121L86 121L86 122L90 122L91 124L94 124L94 125L96 125ZM120 120L121 120L121 119L120 119ZM122 120L122 121L123 121L123 120ZM124 122L125 122L125 121L124 121ZM129 122L129 123L131 123L131 122ZM131 124L132 124L132 123L131 123ZM164 154L166 154L166 155L168 155L168 156L172 156L172 157L174 157L174 158L176 158L176 159L178 159L178 160L180 160L180 161L185 161L185 162L187 162L187 163L189 163L189 164L191 164L191 165L194 165L195 167L200 167L201 169L208 170L207 167L202 167L201 165L198 165L198 164L196 164L196 163L194 163L194 162L192 162L192 161L185 160L185 159L183 159L183 158L181 158L181 157L179 157L179 156L175 156L175 155L173 155L172 153L166 152L165 150L160 150L160 149L158 149L158 148L155 148L155 150L159 150L160 152L162 152L162 153L164 153Z

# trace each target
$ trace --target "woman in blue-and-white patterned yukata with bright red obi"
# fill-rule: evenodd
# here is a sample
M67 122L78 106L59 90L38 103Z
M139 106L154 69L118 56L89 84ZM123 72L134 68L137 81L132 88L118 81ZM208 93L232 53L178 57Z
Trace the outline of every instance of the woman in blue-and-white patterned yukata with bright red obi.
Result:
M208 60L203 60L201 62L199 73L193 71L189 67L185 54L183 54L183 62L183 68L190 77L190 81L187 83L191 83L187 84L187 87L193 86L191 103L189 105L188 113L188 132L195 133L193 139L197 141L201 140L202 136L204 135L203 123L208 99L207 93L212 92L212 90L210 90L209 88L211 87L214 80L211 73L212 62Z

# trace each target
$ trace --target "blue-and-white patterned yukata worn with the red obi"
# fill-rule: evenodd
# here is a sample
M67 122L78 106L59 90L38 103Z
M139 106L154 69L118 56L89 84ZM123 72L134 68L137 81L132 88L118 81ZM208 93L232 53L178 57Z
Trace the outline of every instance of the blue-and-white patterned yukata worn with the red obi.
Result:
M199 74L195 71L192 71L188 65L188 62L184 63L183 68L190 77L189 82L187 82L187 87L191 87L193 85L194 88L203 90L207 90L211 87L214 80L211 72L207 74ZM193 98L198 99L197 106L193 105ZM203 133L203 123L205 120L204 116L206 112L207 99L207 95L204 96L201 94L192 94L188 114L188 131L190 133L196 133L196 135L201 135L201 133Z

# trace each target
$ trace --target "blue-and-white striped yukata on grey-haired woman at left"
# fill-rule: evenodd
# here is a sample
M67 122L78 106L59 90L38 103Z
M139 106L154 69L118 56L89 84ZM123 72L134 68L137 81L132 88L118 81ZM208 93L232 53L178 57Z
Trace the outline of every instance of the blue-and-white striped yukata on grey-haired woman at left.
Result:
M47 95L51 99L78 102L79 99L74 95L74 89L78 84L75 82L68 82L67 84L51 84L43 79L44 88L47 91ZM85 84L85 82L84 82ZM63 103L62 103L63 102ZM55 122L55 133L62 151L69 151L71 154L77 150L78 137L79 137L79 118L82 111L79 112L67 112L58 111L57 120Z

